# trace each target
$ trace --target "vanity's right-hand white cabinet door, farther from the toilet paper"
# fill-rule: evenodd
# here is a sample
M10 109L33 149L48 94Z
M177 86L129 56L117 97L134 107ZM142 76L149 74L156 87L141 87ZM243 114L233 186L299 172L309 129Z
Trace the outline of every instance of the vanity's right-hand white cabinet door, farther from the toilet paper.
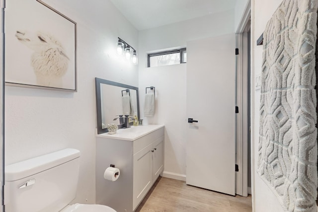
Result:
M161 137L153 143L153 181L155 182L163 170L163 139Z

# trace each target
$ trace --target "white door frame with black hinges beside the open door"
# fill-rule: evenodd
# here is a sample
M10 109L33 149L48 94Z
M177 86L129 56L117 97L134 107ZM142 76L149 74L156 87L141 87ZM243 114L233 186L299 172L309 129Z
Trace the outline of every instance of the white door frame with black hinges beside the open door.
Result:
M236 164L239 171L236 172L236 194L247 197L248 193L248 37L250 29L251 6L248 0L242 18L236 31L236 48L239 54L236 57L236 106L239 113L236 114Z

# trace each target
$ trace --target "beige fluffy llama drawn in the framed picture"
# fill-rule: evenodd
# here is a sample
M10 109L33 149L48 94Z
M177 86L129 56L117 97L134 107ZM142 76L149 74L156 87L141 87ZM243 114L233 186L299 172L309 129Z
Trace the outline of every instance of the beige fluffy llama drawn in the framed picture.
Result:
M70 59L62 44L53 36L42 32L18 30L15 37L33 51L30 62L37 85L63 87L62 77L68 70Z

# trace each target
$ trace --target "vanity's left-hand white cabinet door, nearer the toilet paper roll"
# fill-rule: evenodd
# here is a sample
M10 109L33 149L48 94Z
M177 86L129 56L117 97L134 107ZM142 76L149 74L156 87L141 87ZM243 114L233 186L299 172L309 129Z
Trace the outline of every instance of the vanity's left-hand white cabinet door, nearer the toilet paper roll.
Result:
M133 210L153 185L153 144L149 144L134 154Z

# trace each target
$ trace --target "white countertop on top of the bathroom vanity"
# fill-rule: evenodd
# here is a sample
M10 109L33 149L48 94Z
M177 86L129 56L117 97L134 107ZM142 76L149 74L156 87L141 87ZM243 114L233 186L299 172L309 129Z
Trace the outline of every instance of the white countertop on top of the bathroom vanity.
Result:
M115 134L97 134L96 137L100 138L109 138L109 139L119 139L119 140L126 140L126 141L135 141L143 136L146 136L147 134L150 134L151 132L154 132L160 128L164 127L164 125L142 125L137 127L130 127L125 129L119 129L117 130L117 133Z

